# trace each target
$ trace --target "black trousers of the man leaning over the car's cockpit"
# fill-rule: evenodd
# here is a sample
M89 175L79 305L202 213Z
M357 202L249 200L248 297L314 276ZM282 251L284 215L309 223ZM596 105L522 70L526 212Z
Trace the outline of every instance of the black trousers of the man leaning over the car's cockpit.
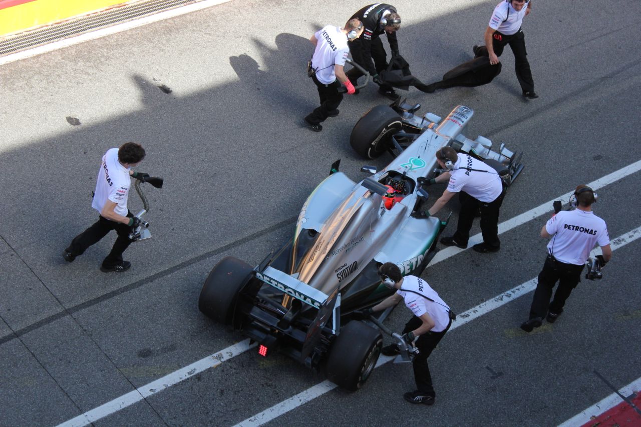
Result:
M460 244L467 245L470 240L470 229L472 222L476 216L476 212L481 212L481 234L483 235L483 242L488 246L499 247L501 241L499 240L499 210L503 204L503 197L505 196L505 187L503 191L496 197L494 201L485 203L470 196L466 192L459 193L461 201L461 209L458 212L458 224L456 224L456 233L454 233L454 240Z

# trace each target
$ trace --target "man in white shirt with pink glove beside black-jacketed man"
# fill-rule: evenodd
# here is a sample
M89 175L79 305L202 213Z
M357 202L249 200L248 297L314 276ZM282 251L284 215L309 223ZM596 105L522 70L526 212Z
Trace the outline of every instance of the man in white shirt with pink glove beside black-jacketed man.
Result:
M343 100L343 95L338 92L341 84L347 88L347 94L356 92L343 68L349 54L347 42L356 40L362 33L362 22L350 19L345 28L328 25L310 38L310 42L316 46L312 56L311 77L318 88L320 106L308 114L305 121L315 132L322 131L321 122L338 115L338 105Z

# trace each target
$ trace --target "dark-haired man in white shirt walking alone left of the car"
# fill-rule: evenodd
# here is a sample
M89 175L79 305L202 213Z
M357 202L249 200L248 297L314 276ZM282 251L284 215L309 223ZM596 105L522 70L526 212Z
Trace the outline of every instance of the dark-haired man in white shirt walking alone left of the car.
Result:
M145 157L145 150L135 142L125 142L120 148L109 149L103 156L96 180L96 190L92 208L99 213L98 221L87 230L76 236L62 256L67 262L73 262L76 256L85 253L89 246L99 242L112 230L118 238L112 251L103 260L100 270L103 272L123 272L131 267L131 262L122 260L122 253L131 244L129 232L140 222L133 218L127 208L131 176L144 180L149 174L133 172Z

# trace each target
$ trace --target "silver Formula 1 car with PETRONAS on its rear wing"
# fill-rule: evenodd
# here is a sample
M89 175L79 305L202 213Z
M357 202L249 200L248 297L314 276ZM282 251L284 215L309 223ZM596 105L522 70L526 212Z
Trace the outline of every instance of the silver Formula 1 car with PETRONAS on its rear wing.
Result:
M359 182L334 163L301 208L292 240L256 267L224 258L213 268L199 297L201 312L258 342L262 356L280 351L345 389L359 389L383 339L371 323L355 320L354 310L392 292L381 285L381 264L420 275L449 221L420 217L429 195L419 178L434 176L435 151L453 146L486 160L506 185L521 169L503 144L496 152L487 138L462 135L470 108L457 106L443 121L414 115L418 108L397 101L365 113L352 147L367 158L389 151L394 160L381 171L363 167L371 176Z

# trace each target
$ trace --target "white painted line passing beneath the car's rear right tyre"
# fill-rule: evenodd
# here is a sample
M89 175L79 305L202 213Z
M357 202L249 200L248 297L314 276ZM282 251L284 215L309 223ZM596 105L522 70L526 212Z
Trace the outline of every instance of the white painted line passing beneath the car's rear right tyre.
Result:
M624 233L620 235L616 239L612 239L610 241L610 246L614 251L615 249L619 249L622 246L626 246L626 244L631 243L639 238L641 238L641 226L628 231L628 233ZM598 250L594 249L592 253L590 253L590 256L594 256L600 253L601 253L600 248ZM519 286L513 289L503 292L503 294L501 295L497 295L492 299L488 299L487 301L485 301L485 303L481 303L478 306L471 308L470 310L467 310L467 312L465 313L458 314L456 316L456 320L452 322L452 326L449 328L449 330L452 331L460 326L463 326L467 322L473 321L477 317L481 317L484 314L488 314L492 310L495 310L496 308L499 308L500 306L503 306L509 303L510 301L514 301L520 296L524 296L525 294L528 294L529 292L535 290L536 287L537 287L537 278L535 277L531 280L521 283ZM451 332L448 332L448 333L451 333ZM390 360L394 360L394 357L381 355L381 357L378 359L378 363L376 364L376 367L387 364L387 362L390 362ZM322 396L326 392L333 390L337 387L338 386L332 383L331 381L325 380L322 383L314 385L313 387L310 387L309 389L304 390L299 394L296 394L296 396L292 396L291 398L284 400L281 403L278 403L272 406L271 408L267 408L263 412L260 412L260 414L253 415L252 417L247 418L245 421L241 421L240 423L236 424L234 427L261 426L262 424L269 423L269 421L272 421L272 419L277 418L280 415L286 414L287 412L290 412L290 410L296 409L298 406L301 406L304 403L307 403L315 398L318 398L319 396ZM619 398L619 402L617 403L620 403L620 398ZM577 425L577 424L569 424L569 425Z

